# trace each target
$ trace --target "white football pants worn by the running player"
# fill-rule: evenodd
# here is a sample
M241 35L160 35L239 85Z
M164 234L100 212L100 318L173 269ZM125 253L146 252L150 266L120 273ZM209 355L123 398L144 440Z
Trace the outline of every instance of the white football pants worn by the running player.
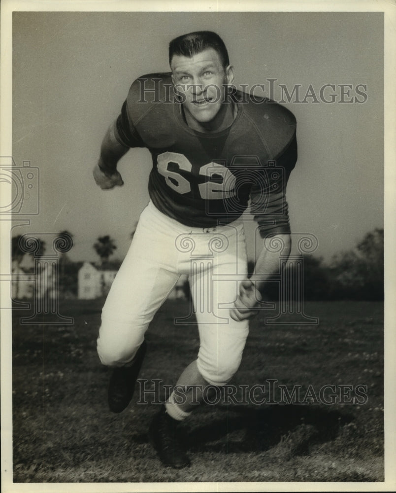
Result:
M247 274L243 224L237 220L216 228L191 228L158 211L152 202L140 215L102 310L98 353L104 365L132 361L150 321L182 274L190 276L198 321L198 370L212 385L231 380L248 335L248 321L230 317L238 284ZM173 315L177 319L186 314ZM195 327L186 325L183 330L189 337Z

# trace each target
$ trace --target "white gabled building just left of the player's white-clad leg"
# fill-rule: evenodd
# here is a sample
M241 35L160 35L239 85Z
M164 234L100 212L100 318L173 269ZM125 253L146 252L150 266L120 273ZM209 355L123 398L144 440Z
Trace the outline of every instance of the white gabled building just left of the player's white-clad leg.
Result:
M105 296L116 274L116 270L103 269L90 262L84 262L78 271L78 299L93 300Z

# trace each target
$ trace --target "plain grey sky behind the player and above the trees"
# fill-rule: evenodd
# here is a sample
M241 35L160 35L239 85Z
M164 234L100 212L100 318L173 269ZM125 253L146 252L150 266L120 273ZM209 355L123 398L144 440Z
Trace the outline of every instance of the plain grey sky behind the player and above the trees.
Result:
M279 101L281 84L289 92L300 84L300 100L311 84L319 100L284 103L297 117L292 231L314 234L315 254L329 260L383 226L382 13L16 12L12 152L18 166L39 169L40 209L13 234L67 229L73 260L96 260L92 245L109 234L124 257L148 201L151 157L130 150L119 164L124 187L101 191L92 177L101 139L132 81L169 70L169 41L203 29L224 39L237 85L264 84L270 96L268 79L276 79ZM325 84L335 85L336 102L321 100ZM345 101L364 102L341 103L342 84L352 85Z

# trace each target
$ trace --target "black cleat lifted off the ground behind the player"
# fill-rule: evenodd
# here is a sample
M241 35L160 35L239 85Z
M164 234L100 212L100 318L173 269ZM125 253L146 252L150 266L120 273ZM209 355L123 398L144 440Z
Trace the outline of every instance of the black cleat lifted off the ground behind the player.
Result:
M114 368L110 377L107 399L110 411L121 413L131 402L137 376L146 353L146 341L143 341L133 358L131 366Z

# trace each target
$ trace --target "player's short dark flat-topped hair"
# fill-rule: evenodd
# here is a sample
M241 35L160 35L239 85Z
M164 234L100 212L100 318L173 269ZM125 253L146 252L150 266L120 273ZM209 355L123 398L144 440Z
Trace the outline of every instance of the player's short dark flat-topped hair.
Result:
M212 31L196 31L172 39L169 43L169 65L174 55L191 58L209 48L213 48L219 53L223 67L230 65L228 51L223 39Z

